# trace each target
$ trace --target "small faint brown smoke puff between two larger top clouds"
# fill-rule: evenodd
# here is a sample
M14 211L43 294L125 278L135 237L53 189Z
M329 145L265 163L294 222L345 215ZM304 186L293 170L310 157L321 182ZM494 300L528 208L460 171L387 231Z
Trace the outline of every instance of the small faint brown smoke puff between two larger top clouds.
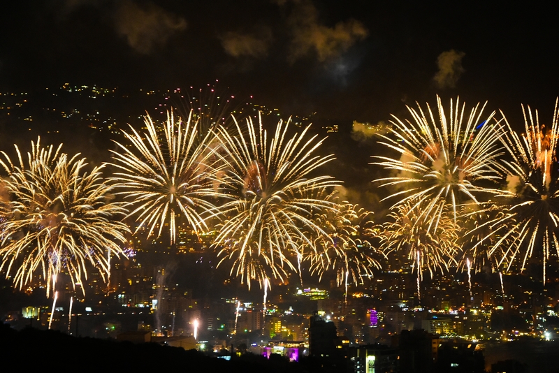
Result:
M256 37L252 34L228 32L221 39L225 52L233 57L262 58L268 55L272 33L269 29L264 29Z

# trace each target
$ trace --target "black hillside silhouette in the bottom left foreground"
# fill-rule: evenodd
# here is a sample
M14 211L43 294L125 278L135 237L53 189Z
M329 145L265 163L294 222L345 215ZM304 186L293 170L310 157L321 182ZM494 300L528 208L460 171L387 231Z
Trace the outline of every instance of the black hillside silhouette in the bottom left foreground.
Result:
M285 358L247 354L230 361L206 356L196 350L184 351L179 347L155 343L132 344L115 340L72 337L53 330L25 328L17 331L8 324L0 326L0 351L3 367L9 370L31 372L48 367L75 372L319 372L317 367L290 363ZM307 362L309 365L311 362Z

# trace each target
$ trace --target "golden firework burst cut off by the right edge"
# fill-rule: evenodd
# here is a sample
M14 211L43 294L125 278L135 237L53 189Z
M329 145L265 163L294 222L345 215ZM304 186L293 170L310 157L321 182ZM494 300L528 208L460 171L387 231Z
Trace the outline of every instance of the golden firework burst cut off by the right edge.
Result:
M523 114L522 136L504 119L507 131L501 140L512 160L502 161L507 188L500 193L495 206L502 213L486 221L483 227L492 233L478 244L493 241L488 253L500 256L497 264L505 270L518 266L522 272L528 258L541 256L545 284L545 266L551 249L555 247L559 254L558 102L551 126L540 124L537 111L532 115L530 107L523 107Z

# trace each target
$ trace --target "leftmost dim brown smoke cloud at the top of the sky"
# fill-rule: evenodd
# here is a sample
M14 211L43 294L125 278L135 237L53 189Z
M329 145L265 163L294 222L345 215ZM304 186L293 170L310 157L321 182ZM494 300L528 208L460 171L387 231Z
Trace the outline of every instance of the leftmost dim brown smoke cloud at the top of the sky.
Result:
M154 3L139 6L131 0L119 2L114 14L117 34L124 36L136 52L149 54L156 45L187 28L182 17L176 17Z

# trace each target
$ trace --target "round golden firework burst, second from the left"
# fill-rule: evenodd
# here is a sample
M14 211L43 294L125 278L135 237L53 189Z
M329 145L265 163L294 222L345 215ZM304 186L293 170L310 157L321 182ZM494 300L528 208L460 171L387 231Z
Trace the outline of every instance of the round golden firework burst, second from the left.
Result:
M119 172L112 182L119 189L117 194L131 200L129 216L139 222L134 233L147 229L148 237L159 237L168 224L173 244L177 219L184 217L195 231L204 231L208 227L202 214L214 208L208 199L220 196L213 188L212 175L219 170L214 168L212 135L198 133L198 122L191 115L182 122L173 112L167 113L162 126L164 140L159 136L161 127L149 115L145 126L147 133L138 133L132 126L130 133L123 131L131 147L115 142L119 151L112 151L112 166Z

